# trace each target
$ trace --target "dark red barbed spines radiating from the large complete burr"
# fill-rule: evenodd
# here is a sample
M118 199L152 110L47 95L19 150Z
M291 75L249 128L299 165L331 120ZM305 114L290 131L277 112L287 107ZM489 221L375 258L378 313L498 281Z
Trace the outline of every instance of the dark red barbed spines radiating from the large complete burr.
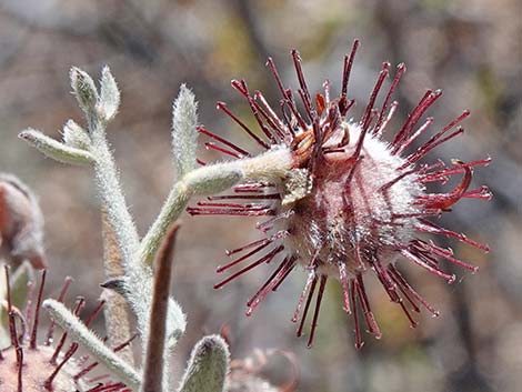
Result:
M305 115L302 115L298 110L292 91L283 86L272 59L268 60L267 66L272 72L280 90L280 93L282 96L282 99L280 101L281 117L279 117L275 111L270 107L270 104L268 104L267 100L261 94L261 92L255 91L252 96L249 92L244 80L232 81L232 87L248 100L248 103L255 117L255 120L259 123L267 139L259 137L252 130L250 130L237 115L234 115L225 107L223 102L218 103L218 109L224 111L225 114L228 114L235 123L238 123L240 128L244 132L247 132L247 134L250 135L254 140L254 142L264 150L270 149L271 145L274 145L277 143L284 143L288 147L292 148L295 140L301 134L303 134L303 132L311 129L313 131L314 137L314 149L308 162L308 169L313 172L313 163L315 159L318 159L322 154L328 154L331 152L342 152L347 147L348 141L344 140L333 149L331 147L324 148L323 143L331 135L329 131L333 131L334 127L337 127L342 119L348 118L347 114L354 104L354 100L348 99L348 84L358 47L359 41L355 40L351 53L347 54L344 58L343 78L340 97L334 101L330 101L330 83L327 80L323 84L324 94L315 96L315 107L312 103L312 98L305 83L305 79L301 68L300 56L295 50L292 50L291 54L293 58L300 84L300 89L298 89L298 94L303 103ZM352 180L352 175L355 171L355 168L362 159L361 150L365 135L368 133L371 133L374 137L381 137L387 130L387 127L390 120L392 119L393 114L395 113L399 103L396 101L392 101L392 94L404 72L405 66L403 63L399 64L396 67L395 76L383 100L382 107L380 110L378 110L374 108L374 104L379 92L381 91L381 88L384 83L384 80L390 73L390 63L383 63L375 86L370 94L368 104L364 109L363 115L359 121L361 132L355 143L354 152L348 160L348 163L351 162L351 164L347 163L347 170L350 170L345 184L347 187L350 187L350 181ZM408 120L404 122L403 127L399 130L399 132L392 140L390 144L390 151L393 155L402 155L405 149L412 145L412 143L414 143L418 138L430 128L430 125L433 123L433 118L426 118L426 120L421 125L419 125L419 122L423 114L426 112L426 110L441 96L442 92L440 90L428 90L425 92L419 103L410 112ZM450 121L426 142L422 143L416 149L416 151L406 154L403 158L404 164L398 168L396 177L390 179L390 181L384 184L380 189L380 191L385 194L385 192L388 192L388 190L394 183L410 175L414 178L414 181L416 181L421 185L424 185L426 183L433 182L445 183L450 177L455 174L463 174L463 179L455 187L455 189L450 193L424 193L422 195L419 195L415 202L416 205L420 205L419 212L410 214L392 214L390 221L380 222L375 220L372 224L402 225L404 219L414 219L416 222L414 229L421 232L451 237L461 242L471 244L482 251L489 251L489 248L486 245L472 241L468 239L464 234L443 229L436 225L435 223L426 220L426 218L440 215L442 212L449 210L452 204L454 204L458 200L462 198L486 200L491 199L491 194L486 187L480 187L474 190L469 190L472 168L476 165L488 165L491 160L488 158L473 162L453 161L452 167L446 167L441 161L431 165L418 164L419 160L424 158L428 152L433 150L435 147L448 142L454 137L461 134L463 132L463 129L459 124L469 114L469 111L464 111L454 120ZM297 132L298 129L300 130L299 132ZM451 130L454 131L450 132ZM203 127L200 127L199 131L202 134L205 134L207 137L222 144L220 145L208 142L205 143L205 147L209 149L220 151L235 159L241 159L251 155L251 153L245 149L210 132ZM247 182L235 187L233 189L233 194L209 198L208 201L199 202L197 207L189 208L188 212L197 215L224 214L244 217L271 217L267 221L258 223L258 229L267 233L272 228L274 221L288 218L289 214L292 213L292 211L280 211L279 207L281 199L281 194L279 194L277 188L274 188L273 184L262 182ZM224 202L217 203L215 200L222 200ZM245 202L229 202L228 200L244 200ZM347 202L349 202L349 200ZM355 225L355 222L352 222L352 225ZM248 260L253 261L247 267L239 270L238 272L230 275L229 278L224 279L222 282L215 284L214 288L220 289L224 284L229 283L231 280L250 271L251 269L262 263L271 263L279 254L283 255L283 260L280 262L279 267L274 270L272 275L265 281L265 283L253 295L253 298L247 302L247 314L250 315L255 309L255 306L264 299L267 293L269 291L275 291L282 283L282 281L297 265L295 255L285 255L284 245L282 244L281 240L287 235L291 235L291 233L285 230L280 230L269 238L263 238L261 240L248 243L233 251L228 251L227 253L229 255L232 255L249 250L242 257L233 260L224 267L220 267L218 269L219 273L228 270L231 267L247 262ZM375 271L390 299L393 302L400 304L401 309L405 313L412 326L415 326L416 322L414 321L410 311L405 306L404 300L410 304L411 309L414 312L419 312L420 305L423 305L433 315L439 314L439 312L435 311L429 303L426 303L421 298L421 295L405 281L405 279L400 274L400 272L393 264L382 265L379 260L372 257L364 257L364 263L363 255L361 254L362 244L359 243L359 239L357 237L353 237L352 241L354 259L358 262L359 269L361 271L365 270L367 263ZM270 245L272 248L270 248ZM470 265L459 259L455 259L451 249L443 249L441 247L435 245L431 241L425 242L420 239L414 239L408 244L395 244L394 247L395 251L400 252L405 259L426 269L431 273L445 279L449 283L452 283L455 280L455 277L453 274L448 274L442 271L441 267L439 265L438 258L444 259L472 272L475 272L478 269L474 265ZM264 251L268 251L268 253L263 254ZM362 274L357 273L355 278L349 279L348 273L345 271L345 267L343 267L344 263L340 262L339 279L343 288L344 310L347 311L347 313L353 314L355 325L355 346L359 349L362 346L362 339L359 328L359 315L357 311L358 308L362 310L364 320L367 322L368 331L374 334L377 338L381 335L381 332L370 309L370 303L368 301L368 296L365 294L365 289L362 281ZM303 330L303 322L307 318L307 313L312 301L312 295L315 289L318 289L315 309L311 323L309 345L311 345L313 342L313 335L317 326L321 299L323 296L323 291L327 283L327 277L318 275L315 268L317 265L314 265L314 260L312 257L312 260L309 265L309 279L304 285L303 292L299 300L294 318L292 319L294 322L299 320L301 308L304 304L303 315L301 318L301 322L297 331L297 334L301 335Z

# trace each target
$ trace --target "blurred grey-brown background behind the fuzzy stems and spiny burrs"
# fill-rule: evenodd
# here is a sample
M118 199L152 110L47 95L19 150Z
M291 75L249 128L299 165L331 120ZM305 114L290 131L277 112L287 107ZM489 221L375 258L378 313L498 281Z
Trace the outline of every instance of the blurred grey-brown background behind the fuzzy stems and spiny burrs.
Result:
M369 279L383 338L367 335L361 352L353 348L340 288L329 284L315 345L309 350L305 338L294 338L290 322L302 272L293 273L251 318L244 316L244 302L268 270L258 269L223 290L212 289L223 250L257 239L255 221L185 215L173 290L188 313L189 329L174 370L183 369L202 334L229 325L234 358L254 348L293 352L301 370L298 391L520 390L521 16L519 0L1 0L0 170L16 173L40 197L52 264L47 294L56 295L63 278L72 275L74 291L93 304L103 281L99 203L89 170L44 159L17 138L27 127L60 138L69 118L82 120L70 94L71 66L98 76L109 64L119 82L122 105L109 139L143 233L174 177L170 115L180 83L187 82L199 99L201 123L221 135L239 134L215 110L215 101L227 101L252 123L247 105L230 88L231 79L245 78L251 89L273 101L278 96L264 61L272 56L284 81L294 87L289 50L298 48L311 89L330 79L339 90L343 54L359 38L362 47L350 91L359 102L354 113L364 108L387 60L408 66L395 94L398 119L405 119L428 88L444 91L429 113L435 117L434 129L471 110L466 133L438 148L430 159L449 163L452 158L493 158L489 168L475 171L474 185L488 184L494 199L465 200L443 218L445 225L488 242L492 251L484 255L456 242L444 243L480 267L474 275L455 270L459 281L453 285L405 268L411 283L441 311L438 319L423 312L415 330ZM205 151L201 155L213 158ZM272 362L265 371L275 384L292 378L285 362Z

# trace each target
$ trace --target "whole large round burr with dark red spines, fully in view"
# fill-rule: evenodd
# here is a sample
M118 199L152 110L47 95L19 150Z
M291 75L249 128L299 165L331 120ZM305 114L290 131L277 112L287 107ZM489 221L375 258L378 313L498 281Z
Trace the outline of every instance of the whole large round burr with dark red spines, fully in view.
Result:
M262 134L249 129L224 103L219 102L218 109L223 110L268 153L285 151L291 163L284 168L283 175L278 171L277 175L251 179L237 185L233 194L212 197L208 202L199 202L188 209L191 214L268 217L257 224L263 233L262 239L228 251L228 255L235 259L220 267L218 272L239 264L245 267L215 288L257 265L279 260L273 273L247 302L247 314L251 314L297 265L304 267L308 279L293 321L300 321L297 333L301 335L317 292L309 345L313 342L329 279L339 280L342 285L344 311L353 315L355 346L359 349L362 346L360 313L369 332L375 338L381 336L364 288L363 277L368 272L377 275L390 299L402 308L415 326L410 310L419 312L422 305L434 315L439 313L404 280L395 267L399 260L420 265L448 283L452 283L455 277L442 270L440 260L476 271L475 267L454 258L451 249L422 240L418 233L455 238L488 251L486 245L441 228L430 218L450 211L463 198L490 199L485 187L470 190L472 169L488 164L490 159L468 163L454 160L451 167L442 161L420 163L432 149L463 132L459 124L469 111L450 121L416 149L412 148L433 122L432 118L422 122L422 117L441 97L440 90L429 90L392 141L385 141L383 134L389 132L390 120L398 107L392 96L405 71L404 64L396 67L382 104L377 108L378 96L390 73L390 63L385 62L362 117L359 121L349 120L354 100L349 99L348 86L358 47L359 41L355 41L351 54L344 58L341 92L335 98L331 97L329 81L323 84L323 93L311 96L295 50L291 54L299 80L297 92L284 87L272 59L269 59L267 64L282 97L279 114L278 108L271 107L261 92L252 94L244 80L233 80L232 87L247 99ZM298 108L295 97L299 97L302 110ZM252 155L244 148L202 127L200 132L213 139L205 143L209 149L237 159ZM428 183L444 183L452 175L462 175L453 190L445 193L426 191Z

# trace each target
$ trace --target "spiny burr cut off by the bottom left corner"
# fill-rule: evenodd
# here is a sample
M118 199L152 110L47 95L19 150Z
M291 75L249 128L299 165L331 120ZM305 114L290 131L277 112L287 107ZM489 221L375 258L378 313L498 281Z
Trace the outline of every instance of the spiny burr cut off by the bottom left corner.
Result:
M9 268L6 267L7 299L0 305L4 306L9 318L10 346L0 348L0 392L69 392L69 391L130 391L119 381L107 381L109 375L86 380L86 375L98 366L97 361L89 355L74 358L79 343L67 343L68 332L63 332L53 344L54 321L51 320L43 342L39 342L41 334L40 311L42 293L46 284L47 271L42 270L38 292L34 292L30 282L29 298L24 311L14 306L11 293ZM58 301L62 302L71 285L72 279L67 278ZM2 282L0 282L2 283ZM89 325L103 306L100 301L84 321ZM74 305L74 314L78 315L86 305L86 300L79 296ZM32 325L31 324L32 321ZM30 325L30 328L29 328ZM2 325L0 325L2 328ZM118 352L126 348L130 341L114 348Z

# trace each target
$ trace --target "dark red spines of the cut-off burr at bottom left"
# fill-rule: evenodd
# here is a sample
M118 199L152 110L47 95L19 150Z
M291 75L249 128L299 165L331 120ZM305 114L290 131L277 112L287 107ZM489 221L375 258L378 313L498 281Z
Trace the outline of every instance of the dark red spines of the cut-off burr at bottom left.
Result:
M29 296L27 301L27 306L26 306L26 312L24 315L23 313L14 308L12 305L12 300L11 300L11 287L10 287L10 274L9 274L9 267L6 265L4 268L6 272L6 282L7 282L7 311L8 311L8 318L9 318L9 332L11 336L11 346L16 352L16 358L17 358L17 372L18 372L18 390L17 392L23 392L23 371L24 371L24 352L27 350L31 351L38 351L39 350L39 344L38 344L38 332L39 332L39 319L40 319L40 312L41 312L41 303L42 303L42 295L43 295L43 288L46 284L46 277L47 277L47 270L42 270L41 272L41 279L40 279L40 284L38 288L38 296L37 296L37 302L33 306L34 298L33 298L33 284L30 282L30 290L29 290ZM66 278L64 284L61 289L61 292L57 300L59 302L63 302L66 299L66 295L69 291L69 288L71 285L72 279L71 278ZM84 320L84 324L89 326L94 318L99 314L100 310L102 309L104 304L104 301L101 300L97 304L97 306L91 311L91 313L88 315L88 318ZM76 300L76 304L73 308L73 314L79 315L83 306L86 305L86 300L82 296L78 296ZM18 323L20 324L21 331L18 331L17 326L17 320ZM29 336L29 342L27 342L27 333L26 333L26 325L28 325L32 320L32 326L30 331L30 336ZM46 333L46 339L44 339L44 346L52 346L53 343L53 334L54 334L54 326L56 323L51 319L51 322L49 324L48 331ZM71 361L73 355L77 353L79 349L79 344L77 342L72 342L67 350L62 350L66 341L67 341L68 332L63 331L60 339L58 340L58 343L54 346L54 350L52 354L49 358L49 363L52 365L53 370L52 372L42 380L42 388L46 391L53 391L53 381L58 376L58 374L63 371L63 368L67 366L67 364ZM116 346L113 349L114 352L118 352L129 345L131 341L135 338L132 336L131 340L126 341L121 343L120 345ZM27 344L28 343L28 344ZM2 351L0 350L0 363L6 360ZM84 380L84 376L92 371L97 365L98 362L91 362L86 365L86 363L89 360L89 355L83 355L79 361L77 361L76 365L80 368L80 371L77 374L71 374L71 379L74 382L78 382L80 380L83 380L87 382L87 384L96 384L94 386L88 389L86 392L131 392L129 388L122 382L117 382L117 381L106 381L103 382L102 380L110 379L110 374L103 374L96 376L94 379L91 380Z

